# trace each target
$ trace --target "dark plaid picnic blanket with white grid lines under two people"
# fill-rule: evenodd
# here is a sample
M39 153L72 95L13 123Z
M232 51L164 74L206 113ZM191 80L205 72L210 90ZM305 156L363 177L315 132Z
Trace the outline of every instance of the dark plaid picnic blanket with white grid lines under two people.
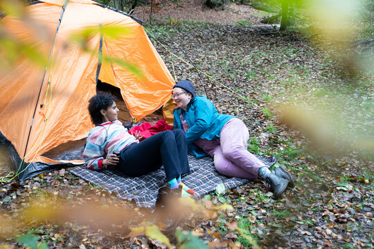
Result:
M267 167L271 167L277 161L275 156L255 156ZM219 174L215 170L213 158L208 156L202 159L188 156L188 163L190 164L190 174L182 177L182 181L195 190L193 195L195 199L200 199L202 196L213 192L220 183L223 183L226 190L229 190L249 182L247 179ZM109 193L114 193L121 199L135 201L138 207L151 209L154 208L156 203L159 188L165 185L166 180L163 167L140 177L128 177L121 172L110 170L96 172L87 169L84 165L71 168L69 172L103 187Z

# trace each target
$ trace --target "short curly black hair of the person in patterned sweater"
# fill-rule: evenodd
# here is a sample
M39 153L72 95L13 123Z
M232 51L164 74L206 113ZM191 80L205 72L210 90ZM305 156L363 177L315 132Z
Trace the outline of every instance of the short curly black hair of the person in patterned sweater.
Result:
M115 101L116 97L114 97L114 95L100 91L94 97L89 99L89 115L91 116L91 120L95 125L103 122L100 110L108 109L108 107L110 107Z

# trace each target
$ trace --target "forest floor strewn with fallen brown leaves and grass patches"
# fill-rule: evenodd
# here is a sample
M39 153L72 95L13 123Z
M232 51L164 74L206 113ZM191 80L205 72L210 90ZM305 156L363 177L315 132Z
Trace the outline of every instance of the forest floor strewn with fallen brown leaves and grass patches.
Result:
M229 204L233 210L187 215L177 232L168 234L170 243L177 248L204 248L204 243L211 248L373 248L373 72L347 66L351 61L341 50L317 46L318 35L260 26L265 14L248 6L206 10L191 4L197 1L180 2L169 1L154 12L152 25L163 34L145 25L173 77L191 80L218 111L244 120L249 150L277 156L296 187L280 200L272 199L260 180L225 194L217 190L199 205L215 210ZM139 8L134 16L148 21L143 13L149 10ZM168 37L206 74L183 62L188 59ZM346 55L366 58L356 50ZM23 234L50 248L166 248L163 237L151 231L153 223L140 224L152 221L152 214L68 169L1 189L3 248L19 248L16 238ZM46 209L30 210L38 203ZM59 206L72 209L48 211ZM82 213L74 208L91 219L78 222ZM32 219L41 212L48 221ZM141 225L149 228L148 236L139 230L129 234L129 227Z

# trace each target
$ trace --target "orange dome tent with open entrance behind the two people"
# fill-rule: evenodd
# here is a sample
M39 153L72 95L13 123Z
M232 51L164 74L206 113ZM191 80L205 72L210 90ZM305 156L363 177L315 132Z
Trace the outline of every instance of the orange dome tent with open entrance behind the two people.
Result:
M55 164L82 163L41 155L57 145L87 137L94 127L87 104L96 94L98 80L121 89L131 116L137 120L159 109L170 96L175 82L141 21L89 0L38 1L26 7L26 14L24 19L6 16L0 25L49 55L50 63L40 68L29 59L20 59L5 75L0 74L0 131L24 158L22 165L21 160L17 163L23 171L19 178L45 172ZM30 19L38 27L30 27ZM73 34L99 26L125 28L127 33L119 39L109 39L103 33L91 35L84 41L89 52L71 42ZM35 31L40 27L42 33ZM101 60L98 55L109 59ZM116 59L132 64L141 74L120 66Z

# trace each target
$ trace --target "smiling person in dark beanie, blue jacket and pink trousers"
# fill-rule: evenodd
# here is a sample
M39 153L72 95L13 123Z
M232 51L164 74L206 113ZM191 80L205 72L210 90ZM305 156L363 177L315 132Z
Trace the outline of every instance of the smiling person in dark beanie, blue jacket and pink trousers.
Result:
M247 150L249 132L244 122L231 115L220 114L213 102L195 95L191 82L183 80L173 86L172 99L178 108L174 111L174 129L186 132L188 153L202 158L214 158L217 172L225 176L265 179L281 197L287 185L294 187L290 173L283 167L270 170Z

